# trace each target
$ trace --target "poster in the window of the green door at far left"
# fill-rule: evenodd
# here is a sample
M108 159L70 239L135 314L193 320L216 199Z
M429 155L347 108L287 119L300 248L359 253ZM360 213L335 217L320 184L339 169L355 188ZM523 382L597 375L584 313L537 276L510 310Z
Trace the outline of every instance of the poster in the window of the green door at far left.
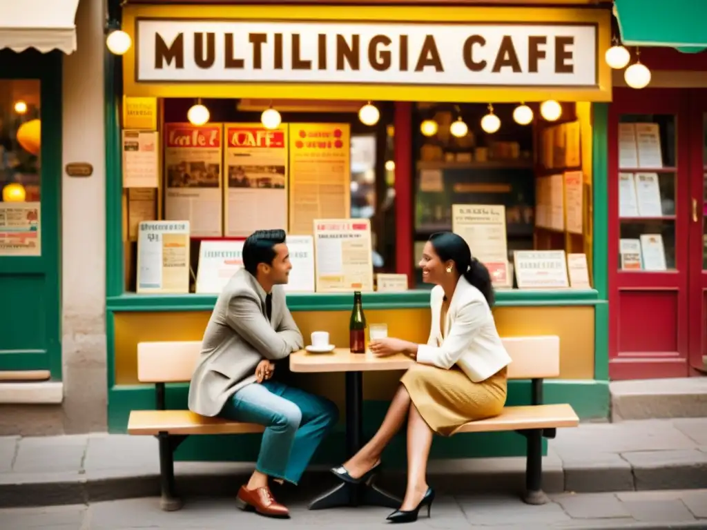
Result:
M41 256L39 202L0 202L0 256Z

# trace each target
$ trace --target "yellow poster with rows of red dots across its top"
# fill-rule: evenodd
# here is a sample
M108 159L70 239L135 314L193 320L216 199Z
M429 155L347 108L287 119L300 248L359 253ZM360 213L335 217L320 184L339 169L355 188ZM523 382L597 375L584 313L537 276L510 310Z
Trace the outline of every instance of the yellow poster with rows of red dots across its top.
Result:
M351 215L351 126L290 124L289 229L312 235L315 219Z

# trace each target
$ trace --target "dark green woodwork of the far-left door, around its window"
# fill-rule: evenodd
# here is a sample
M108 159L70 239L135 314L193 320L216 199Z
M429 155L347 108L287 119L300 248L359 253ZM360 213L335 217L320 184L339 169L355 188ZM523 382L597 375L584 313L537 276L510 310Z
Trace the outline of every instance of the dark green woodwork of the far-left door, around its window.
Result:
M1 79L39 79L42 120L39 257L0 257L0 370L49 370L62 378L62 54L0 52Z

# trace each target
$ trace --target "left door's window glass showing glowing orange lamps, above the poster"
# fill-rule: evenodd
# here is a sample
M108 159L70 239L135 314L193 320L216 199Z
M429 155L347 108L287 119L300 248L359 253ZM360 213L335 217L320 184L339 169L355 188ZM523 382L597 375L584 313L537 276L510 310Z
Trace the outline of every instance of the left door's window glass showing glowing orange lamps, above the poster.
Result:
M0 81L1 201L40 200L40 83Z

